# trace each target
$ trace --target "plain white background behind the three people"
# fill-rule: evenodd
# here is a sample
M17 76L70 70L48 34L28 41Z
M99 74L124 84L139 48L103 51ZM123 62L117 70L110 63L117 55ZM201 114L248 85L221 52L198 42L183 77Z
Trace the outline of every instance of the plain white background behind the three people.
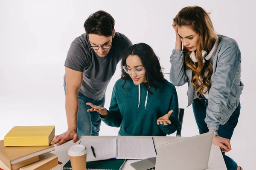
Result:
M64 61L70 43L84 33L87 17L98 10L110 13L115 29L133 43L154 49L164 72L175 47L172 19L185 6L211 11L215 31L235 39L242 54L241 114L227 153L244 169L255 169L255 2L249 0L1 0L0 1L0 140L18 125L56 125L56 135L67 130L64 109ZM108 85L109 107L120 66ZM169 80L169 76L166 75ZM177 87L180 108L187 106L187 85ZM254 125L253 125L254 124ZM118 128L102 123L100 135L117 135ZM192 106L186 108L182 136L198 128ZM172 134L175 136L175 134Z

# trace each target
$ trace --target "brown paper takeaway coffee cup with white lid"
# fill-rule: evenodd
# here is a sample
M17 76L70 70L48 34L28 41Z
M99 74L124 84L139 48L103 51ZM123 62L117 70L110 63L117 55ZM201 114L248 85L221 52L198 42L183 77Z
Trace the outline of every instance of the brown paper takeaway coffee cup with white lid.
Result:
M87 148L82 144L76 144L70 147L68 155L72 170L86 170L86 153Z

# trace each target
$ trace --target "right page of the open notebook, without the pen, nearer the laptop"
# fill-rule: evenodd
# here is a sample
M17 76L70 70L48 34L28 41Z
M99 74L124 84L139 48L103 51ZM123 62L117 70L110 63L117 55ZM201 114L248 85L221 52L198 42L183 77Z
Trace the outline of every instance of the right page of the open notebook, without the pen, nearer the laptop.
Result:
M156 156L152 137L117 139L117 159L147 159Z

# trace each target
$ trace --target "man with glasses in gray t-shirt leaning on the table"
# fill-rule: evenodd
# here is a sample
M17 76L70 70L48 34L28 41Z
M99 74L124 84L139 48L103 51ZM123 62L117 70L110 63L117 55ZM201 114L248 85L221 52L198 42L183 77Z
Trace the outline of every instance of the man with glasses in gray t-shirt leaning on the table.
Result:
M87 102L104 107L105 92L122 53L131 41L114 29L113 17L105 11L90 15L85 32L70 45L65 61L67 132L58 135L52 144L73 142L82 135L99 135L101 119L97 112L87 112Z

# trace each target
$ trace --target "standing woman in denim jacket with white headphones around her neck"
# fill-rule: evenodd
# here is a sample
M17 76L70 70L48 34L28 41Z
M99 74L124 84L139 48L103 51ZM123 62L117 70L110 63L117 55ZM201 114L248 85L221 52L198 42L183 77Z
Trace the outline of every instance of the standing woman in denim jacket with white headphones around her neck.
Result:
M221 147L228 170L241 170L225 156L240 114L241 53L232 38L217 35L203 8L181 9L173 21L175 49L170 62L170 81L188 83L188 106L192 104L200 134L214 131L212 143ZM182 50L183 44L183 50Z

